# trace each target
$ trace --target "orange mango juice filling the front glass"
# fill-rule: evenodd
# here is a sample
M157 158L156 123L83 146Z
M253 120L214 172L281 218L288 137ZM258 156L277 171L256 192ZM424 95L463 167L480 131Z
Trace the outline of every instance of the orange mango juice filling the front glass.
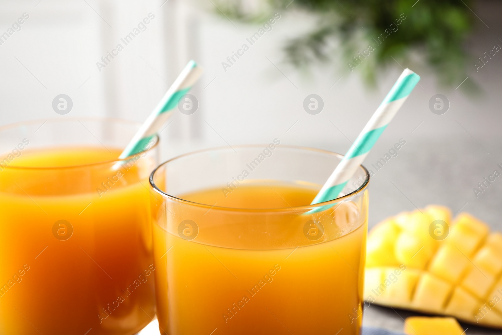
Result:
M323 217L322 239L306 238L311 217L294 207L317 191L256 181L226 197L222 188L178 196L238 210L172 200L153 206L161 332L359 334L367 219L348 202ZM184 227L198 230L195 238L182 237L182 222L193 222Z

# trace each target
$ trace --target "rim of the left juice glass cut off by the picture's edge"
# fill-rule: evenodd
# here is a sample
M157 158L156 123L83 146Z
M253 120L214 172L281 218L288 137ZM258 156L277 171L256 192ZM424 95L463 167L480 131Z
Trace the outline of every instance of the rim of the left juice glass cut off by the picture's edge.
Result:
M37 120L30 120L30 121L21 121L21 122L16 122L13 124L9 125L4 125L0 126L0 133L11 130L11 129L16 129L16 128L21 128L22 126L26 125L33 125L33 124L39 124L43 123L45 124L46 122L68 122L68 121L96 121L96 122L114 122L117 124L130 124L130 125L137 125L141 126L141 122L137 121L131 121L131 120L125 120L125 119L119 119L119 118L107 118L107 117L86 117L86 118L49 118L49 119L37 119ZM42 124L42 125L43 125ZM85 127L85 126L84 126ZM91 133L92 134L92 133ZM99 140L98 140L99 141ZM146 152L151 151L152 149L156 148L160 142L160 138L158 134L155 134L155 144L150 147L147 150L143 150L137 154L132 154L129 155L126 158L123 159L112 159L112 160L106 160L106 161L100 161L100 162L95 162L95 163L88 163L88 164L77 164L77 165L64 165L64 166L16 166L9 164L4 169L19 169L19 170L64 170L64 169L74 169L74 168L85 168L85 167L93 167L93 166L99 166L99 165L105 165L105 164L111 164L111 163L117 163L121 161L125 161L128 159L131 159L132 157L135 157L136 155L143 154ZM103 145L104 146L104 145ZM106 148L106 147L105 147Z

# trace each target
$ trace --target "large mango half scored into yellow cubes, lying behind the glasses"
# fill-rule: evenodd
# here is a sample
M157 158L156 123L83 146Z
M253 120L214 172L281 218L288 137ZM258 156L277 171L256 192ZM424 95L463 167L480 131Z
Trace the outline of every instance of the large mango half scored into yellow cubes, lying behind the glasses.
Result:
M367 246L367 301L502 328L502 234L484 222L429 205L381 222Z

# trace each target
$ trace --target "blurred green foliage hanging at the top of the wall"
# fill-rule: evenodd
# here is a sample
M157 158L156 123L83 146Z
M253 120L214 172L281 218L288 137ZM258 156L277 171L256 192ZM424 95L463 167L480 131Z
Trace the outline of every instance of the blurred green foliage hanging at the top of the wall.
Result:
M467 76L464 46L475 18L469 0L266 1L280 13L289 5L288 10L296 7L318 16L314 29L285 45L287 59L298 67L337 63L360 71L368 83L388 65L424 64L441 84L453 87ZM246 20L237 7L227 14Z

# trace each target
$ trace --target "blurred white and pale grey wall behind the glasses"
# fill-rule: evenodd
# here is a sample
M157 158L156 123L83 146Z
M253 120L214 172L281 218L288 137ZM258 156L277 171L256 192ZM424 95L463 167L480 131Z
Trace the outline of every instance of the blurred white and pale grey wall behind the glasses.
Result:
M167 83L189 59L197 60L205 68L191 92L199 109L189 116L176 112L161 134L164 159L202 147L268 143L274 138L344 153L402 71L398 64L383 70L374 89L363 85L357 69L337 73L338 65L328 64L310 74L300 73L283 62L282 46L314 21L294 10L281 12L273 30L224 71L221 62L259 26L211 14L215 8L208 0L4 0L0 4L0 34L23 13L30 15L21 31L0 45L0 125L88 116L142 122ZM502 46L502 5L480 1L472 9L479 21L467 47L481 56L494 44ZM149 13L155 19L146 31L99 71L96 62ZM502 228L498 205L502 181L497 179L478 198L472 191L502 163L502 53L477 73L472 66L467 80L475 80L483 90L475 98L467 97L461 87L438 87L428 69L414 70L422 76L421 86L365 163L370 168L399 139L407 141L400 155L372 180L370 224L403 209L438 202L454 212L467 203L465 210ZM66 116L52 109L52 100L60 93L73 100ZM311 93L324 100L318 115L303 109L303 100ZM428 108L437 93L446 95L451 104L441 116Z

